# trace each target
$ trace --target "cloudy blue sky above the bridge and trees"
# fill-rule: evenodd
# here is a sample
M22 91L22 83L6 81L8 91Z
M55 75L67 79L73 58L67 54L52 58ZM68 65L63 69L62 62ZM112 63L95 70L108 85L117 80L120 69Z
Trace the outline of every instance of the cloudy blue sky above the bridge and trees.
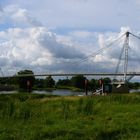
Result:
M115 72L125 37L116 39L139 25L140 0L0 0L0 68ZM139 46L130 36L128 71L140 69Z

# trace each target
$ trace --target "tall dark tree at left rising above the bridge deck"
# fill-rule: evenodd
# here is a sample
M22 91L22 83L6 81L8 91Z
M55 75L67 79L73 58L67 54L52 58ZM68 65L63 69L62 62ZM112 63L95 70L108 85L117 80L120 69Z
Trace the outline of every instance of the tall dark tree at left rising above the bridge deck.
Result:
M34 85L35 77L34 73L31 70L21 70L17 73L18 75L18 84L19 89L21 91L28 91L32 90L32 86Z

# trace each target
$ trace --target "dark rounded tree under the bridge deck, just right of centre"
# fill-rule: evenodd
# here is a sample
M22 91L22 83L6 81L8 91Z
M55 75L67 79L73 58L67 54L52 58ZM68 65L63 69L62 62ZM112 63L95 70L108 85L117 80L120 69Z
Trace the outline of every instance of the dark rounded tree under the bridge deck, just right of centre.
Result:
M77 75L71 78L71 85L80 89L85 87L85 77L83 75Z

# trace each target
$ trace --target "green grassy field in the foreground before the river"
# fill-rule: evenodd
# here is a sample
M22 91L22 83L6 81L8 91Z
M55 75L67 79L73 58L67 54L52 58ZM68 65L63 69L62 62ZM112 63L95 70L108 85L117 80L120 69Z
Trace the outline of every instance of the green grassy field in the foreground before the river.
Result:
M139 140L140 94L0 95L0 140Z

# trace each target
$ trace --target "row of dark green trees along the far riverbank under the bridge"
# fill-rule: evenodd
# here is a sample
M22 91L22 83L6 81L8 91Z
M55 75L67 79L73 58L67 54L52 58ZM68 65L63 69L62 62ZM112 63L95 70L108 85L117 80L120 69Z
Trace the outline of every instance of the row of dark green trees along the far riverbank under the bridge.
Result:
M30 76L24 76L29 74ZM23 75L23 76L22 76ZM21 70L16 75L10 78L1 77L0 78L0 90L11 90L19 89L22 91L31 91L32 89L54 89L54 88L67 88L67 89L79 89L84 90L86 77L83 75L73 76L71 78L64 78L55 81L50 75L46 78L35 78L34 72L31 70ZM109 77L103 79L90 79L88 80L88 90L93 91L98 89L100 85L100 80L105 84L111 83ZM140 83L128 83L129 87L132 89L139 88Z

